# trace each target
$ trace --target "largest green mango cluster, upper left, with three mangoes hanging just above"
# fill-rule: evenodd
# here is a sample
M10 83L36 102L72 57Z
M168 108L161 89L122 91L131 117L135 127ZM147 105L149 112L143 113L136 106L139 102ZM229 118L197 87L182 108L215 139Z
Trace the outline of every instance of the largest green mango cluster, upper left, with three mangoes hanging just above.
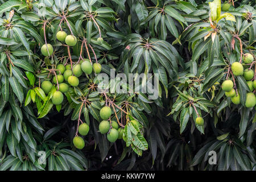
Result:
M60 42L65 41L68 46L75 46L77 43L77 38L73 35L67 35L65 31L58 31L56 38ZM44 56L51 56L53 53L52 45L48 43L44 44L41 48L41 52ZM57 76L53 76L52 81L43 81L41 88L45 94L48 94L51 91L53 84L55 84L57 88L56 84L58 82L59 90L56 90L56 92L53 93L51 100L53 104L60 105L63 102L63 93L68 92L69 86L78 86L79 77L82 76L82 73L89 75L93 70L96 74L100 73L101 64L94 63L92 65L89 59L84 59L75 64L73 68L71 68L71 64L65 66L63 64L58 64L55 69L57 70Z

